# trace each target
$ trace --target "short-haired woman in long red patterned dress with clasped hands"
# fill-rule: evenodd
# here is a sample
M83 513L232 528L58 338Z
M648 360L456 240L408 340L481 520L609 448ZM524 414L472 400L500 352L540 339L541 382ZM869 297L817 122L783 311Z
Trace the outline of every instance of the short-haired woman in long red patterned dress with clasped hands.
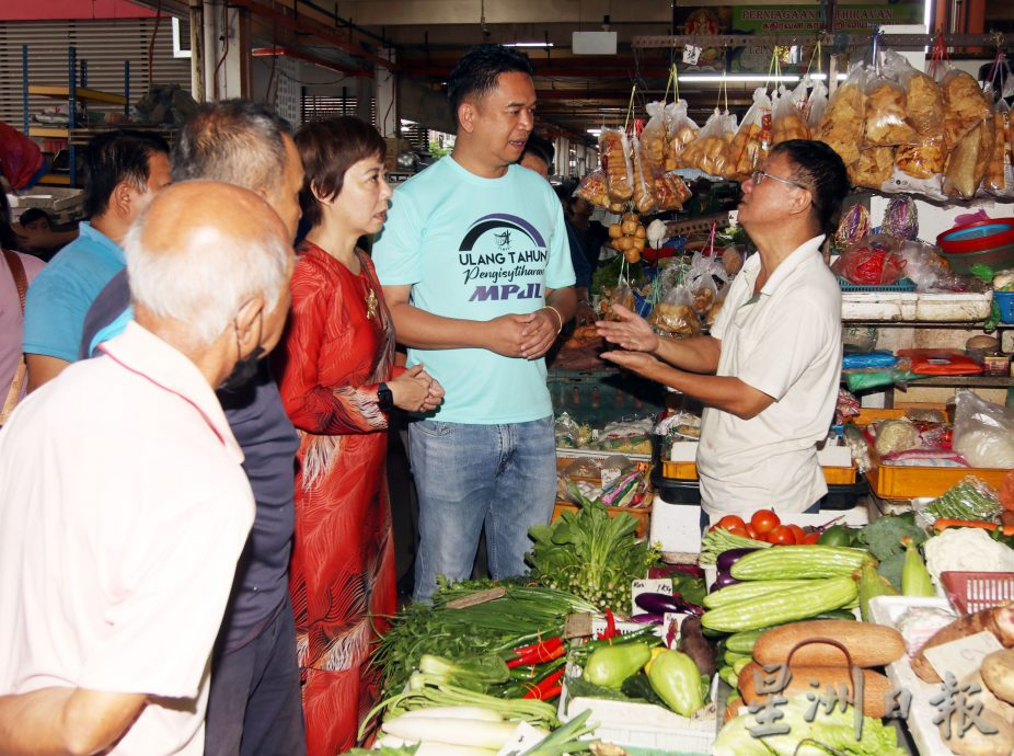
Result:
M394 325L357 240L383 226L391 188L384 141L357 118L296 134L312 228L292 274L281 399L300 432L289 588L296 614L309 756L353 747L377 694L368 666L376 616L395 610L388 411L435 408L442 389L394 368Z

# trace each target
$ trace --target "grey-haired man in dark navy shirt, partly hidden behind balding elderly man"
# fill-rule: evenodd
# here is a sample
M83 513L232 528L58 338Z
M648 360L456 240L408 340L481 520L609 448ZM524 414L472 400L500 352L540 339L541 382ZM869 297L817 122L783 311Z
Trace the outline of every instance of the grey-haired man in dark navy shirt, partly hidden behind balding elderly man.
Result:
M180 131L173 152L173 180L187 179L256 192L295 237L302 163L288 124L262 105L232 100L203 106ZM81 356L131 317L124 272L89 310ZM299 440L263 360L241 360L233 377L218 397L243 449L257 508L211 657L205 754L298 755L306 753L306 737L288 568Z

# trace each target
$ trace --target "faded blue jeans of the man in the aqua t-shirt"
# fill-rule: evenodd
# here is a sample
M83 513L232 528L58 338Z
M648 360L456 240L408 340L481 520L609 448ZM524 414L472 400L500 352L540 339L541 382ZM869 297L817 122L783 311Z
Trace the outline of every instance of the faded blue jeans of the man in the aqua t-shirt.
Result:
M553 417L473 425L423 420L408 427L419 500L413 598L426 602L437 575L468 579L486 528L494 580L527 571L528 529L545 525L556 497Z

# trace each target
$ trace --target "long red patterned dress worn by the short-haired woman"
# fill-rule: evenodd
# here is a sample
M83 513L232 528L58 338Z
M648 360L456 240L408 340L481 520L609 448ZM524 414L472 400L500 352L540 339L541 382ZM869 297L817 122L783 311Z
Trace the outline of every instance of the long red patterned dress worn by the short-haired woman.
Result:
M371 615L395 611L388 419L377 405L394 328L366 254L356 251L355 275L312 243L300 252L279 382L301 437L289 589L308 755L334 756L355 745L377 694Z

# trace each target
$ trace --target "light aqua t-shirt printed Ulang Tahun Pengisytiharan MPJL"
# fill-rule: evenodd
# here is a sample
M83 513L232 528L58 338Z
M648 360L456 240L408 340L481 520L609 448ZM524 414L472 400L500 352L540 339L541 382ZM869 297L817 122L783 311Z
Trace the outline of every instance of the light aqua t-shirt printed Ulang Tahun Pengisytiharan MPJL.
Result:
M412 303L445 318L492 320L545 305L574 285L563 208L549 183L510 165L499 179L447 157L397 187L373 247L384 286L412 285ZM488 350L410 350L446 390L435 419L493 425L553 412L545 360Z

